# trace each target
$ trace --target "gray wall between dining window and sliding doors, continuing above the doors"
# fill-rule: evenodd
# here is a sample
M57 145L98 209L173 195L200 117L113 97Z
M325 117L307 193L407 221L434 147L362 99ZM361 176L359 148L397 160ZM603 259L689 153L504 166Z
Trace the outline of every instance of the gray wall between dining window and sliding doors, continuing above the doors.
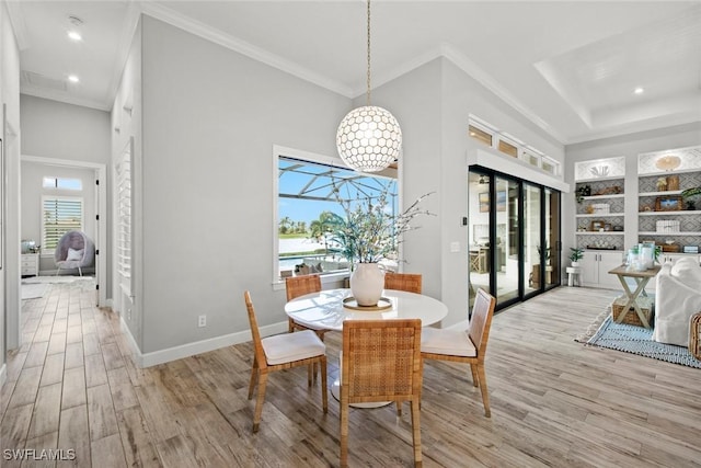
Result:
M412 70L372 95L374 104L386 106L402 126L405 203L425 192L437 192L427 207L438 216L421 219L422 228L405 237L404 258L409 264L404 270L423 273L426 294L448 305L444 327L464 321L468 232L461 220L469 215L467 155L484 148L468 137L469 115L481 117L561 162L564 148L445 58ZM451 242L460 243L460 252L450 251Z

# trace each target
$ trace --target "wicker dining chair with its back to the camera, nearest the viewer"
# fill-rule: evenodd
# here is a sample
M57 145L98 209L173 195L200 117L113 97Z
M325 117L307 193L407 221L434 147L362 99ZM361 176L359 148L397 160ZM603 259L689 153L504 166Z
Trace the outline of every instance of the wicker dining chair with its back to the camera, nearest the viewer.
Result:
M352 403L411 402L414 465L422 465L420 399L421 320L346 320L341 364L341 466L348 465Z

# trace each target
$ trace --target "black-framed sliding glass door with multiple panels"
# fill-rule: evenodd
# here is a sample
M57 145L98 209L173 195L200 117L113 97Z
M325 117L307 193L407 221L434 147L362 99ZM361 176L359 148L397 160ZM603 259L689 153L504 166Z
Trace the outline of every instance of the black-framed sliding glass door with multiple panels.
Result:
M560 285L560 192L481 168L468 187L470 306L478 288L503 308Z

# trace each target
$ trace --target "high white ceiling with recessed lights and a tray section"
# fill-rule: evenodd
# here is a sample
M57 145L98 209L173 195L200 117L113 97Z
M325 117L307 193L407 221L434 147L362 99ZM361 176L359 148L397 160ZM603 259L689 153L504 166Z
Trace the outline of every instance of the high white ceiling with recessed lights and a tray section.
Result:
M112 109L139 12L365 91L364 0L7 3L26 94ZM371 45L374 85L444 56L563 144L701 121L701 0L374 0Z

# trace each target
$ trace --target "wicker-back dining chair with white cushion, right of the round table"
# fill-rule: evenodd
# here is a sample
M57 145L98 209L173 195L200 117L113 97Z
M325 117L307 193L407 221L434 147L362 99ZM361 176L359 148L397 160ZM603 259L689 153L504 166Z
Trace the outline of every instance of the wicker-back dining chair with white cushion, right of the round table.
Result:
M467 331L427 327L424 329L421 341L421 355L424 359L470 364L472 383L475 387L480 387L486 418L490 418L492 412L490 411L490 396L484 372L484 354L486 353L495 305L494 296L483 289L478 289Z

